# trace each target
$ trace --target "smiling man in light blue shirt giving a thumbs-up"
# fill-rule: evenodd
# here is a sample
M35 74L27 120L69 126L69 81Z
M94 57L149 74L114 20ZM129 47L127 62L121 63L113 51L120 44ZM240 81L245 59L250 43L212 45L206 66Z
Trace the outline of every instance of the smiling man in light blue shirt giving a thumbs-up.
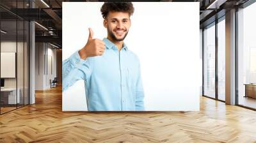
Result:
M133 5L107 2L100 11L108 37L95 39L89 28L86 45L63 61L63 90L83 79L88 110L144 110L140 62L124 43Z

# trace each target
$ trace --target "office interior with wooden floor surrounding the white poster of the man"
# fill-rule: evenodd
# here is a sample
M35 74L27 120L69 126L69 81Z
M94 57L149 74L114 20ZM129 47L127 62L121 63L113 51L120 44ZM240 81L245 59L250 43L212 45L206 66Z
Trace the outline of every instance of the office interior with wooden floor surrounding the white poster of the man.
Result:
M65 2L0 1L0 142L256 142L255 0L150 1L199 4L196 112L63 111Z

